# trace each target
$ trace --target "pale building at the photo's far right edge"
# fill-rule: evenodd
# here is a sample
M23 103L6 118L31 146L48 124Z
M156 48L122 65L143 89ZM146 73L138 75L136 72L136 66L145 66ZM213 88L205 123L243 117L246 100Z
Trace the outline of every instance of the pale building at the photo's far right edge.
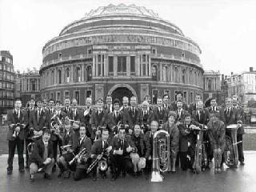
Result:
M238 96L239 101L246 106L249 101L256 101L256 70L250 67L249 71L240 74L231 73L226 77L228 96Z

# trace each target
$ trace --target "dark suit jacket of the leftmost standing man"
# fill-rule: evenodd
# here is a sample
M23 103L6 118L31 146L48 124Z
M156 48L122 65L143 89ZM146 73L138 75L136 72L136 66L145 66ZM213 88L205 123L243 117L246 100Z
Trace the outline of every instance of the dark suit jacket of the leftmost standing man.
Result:
M7 113L7 124L9 125L9 130L7 133L7 140L14 140L15 138L12 137L12 135L14 134L14 129L16 126L10 127L10 124L17 124L17 123L21 123L21 124L25 124L27 125L28 123L28 119L27 119L27 115L26 113L24 113L22 110L20 110L20 115L18 118L18 114L16 114L15 110L9 110ZM20 132L18 134L18 138L23 140L24 139L24 129L26 126L21 126L20 127Z

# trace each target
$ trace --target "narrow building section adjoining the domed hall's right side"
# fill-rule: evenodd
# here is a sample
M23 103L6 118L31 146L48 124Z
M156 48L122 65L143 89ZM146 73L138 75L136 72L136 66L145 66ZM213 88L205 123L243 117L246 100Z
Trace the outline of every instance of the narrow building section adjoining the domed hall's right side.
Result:
M210 98L216 98L218 105L222 105L222 82L219 71L205 70L203 77L203 101L205 102L205 105L210 105Z

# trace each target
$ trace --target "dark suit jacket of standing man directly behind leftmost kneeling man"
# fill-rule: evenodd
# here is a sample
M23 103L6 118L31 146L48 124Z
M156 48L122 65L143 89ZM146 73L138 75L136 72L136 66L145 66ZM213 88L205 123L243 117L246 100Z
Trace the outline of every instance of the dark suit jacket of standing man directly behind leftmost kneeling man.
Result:
M44 126L50 127L50 115L48 110L42 110L38 122L38 109L31 111L30 114L30 127L34 130L42 130Z

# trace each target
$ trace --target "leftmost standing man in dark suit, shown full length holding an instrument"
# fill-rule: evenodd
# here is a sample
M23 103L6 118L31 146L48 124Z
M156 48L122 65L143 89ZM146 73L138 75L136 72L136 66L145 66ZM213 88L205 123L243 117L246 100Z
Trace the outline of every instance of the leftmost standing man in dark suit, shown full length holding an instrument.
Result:
M9 126L7 141L8 141L8 167L7 174L13 172L14 153L17 147L18 151L18 170L24 173L24 128L27 124L27 117L21 110L22 101L16 100L14 102L14 110L9 110L7 114L7 124Z

